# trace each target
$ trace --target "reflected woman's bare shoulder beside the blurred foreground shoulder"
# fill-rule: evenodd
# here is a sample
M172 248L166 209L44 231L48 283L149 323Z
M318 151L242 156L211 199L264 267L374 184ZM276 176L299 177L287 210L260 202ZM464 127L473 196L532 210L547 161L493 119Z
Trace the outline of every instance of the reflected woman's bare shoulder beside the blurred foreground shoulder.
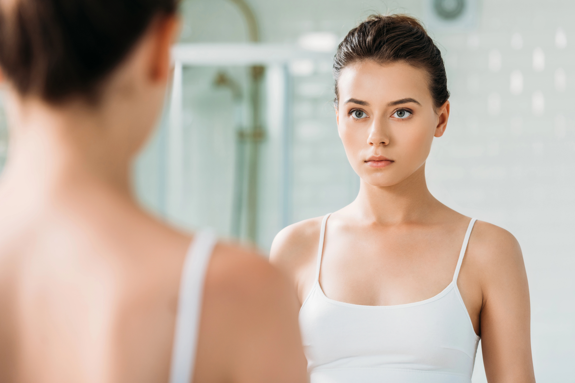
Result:
M270 262L293 274L315 259L322 220L323 217L310 218L282 229L271 244Z

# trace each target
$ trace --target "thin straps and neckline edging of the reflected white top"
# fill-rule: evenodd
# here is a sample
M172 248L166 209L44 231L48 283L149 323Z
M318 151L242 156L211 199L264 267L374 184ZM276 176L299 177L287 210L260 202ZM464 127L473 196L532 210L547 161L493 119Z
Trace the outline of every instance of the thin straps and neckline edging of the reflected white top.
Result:
M320 277L321 257L323 256L325 224L327 222L327 218L330 215L331 215L331 213L325 214L323 221L321 222L320 243L319 243L319 249L317 251L316 280L315 280L315 283L313 284L311 290L309 291L308 296L306 296L304 303L302 303L301 308L300 308L300 312L301 312L301 309L305 306L305 303L308 301L309 297L312 296L313 291L316 288L317 288L317 290L319 290L320 296L330 303L338 304L339 306L364 308L367 310L392 310L394 308L405 308L405 307L419 306L421 304L431 303L431 302L434 302L435 300L442 298L444 295L446 295L453 288L455 288L455 291L457 292L457 295L460 297L459 299L461 299L461 303L463 304L461 294L459 293L459 289L457 288L457 277L459 276L459 269L461 269L461 263L463 261L463 256L465 256L465 251L467 250L467 243L469 242L469 236L471 235L471 230L473 229L473 225L477 221L477 218L471 218L471 221L469 221L469 225L467 226L467 231L465 233L465 237L463 238L463 244L461 246L461 251L459 251L459 258L457 260L457 265L455 266L455 272L453 275L453 279L442 291L439 292L439 294L436 294L436 295L432 296L431 298L427 298L424 300L418 300L417 302L401 303L401 304L388 304L388 305L384 305L384 306L370 306L367 304L355 304L355 303L348 303L348 302L342 302L340 300L331 299L327 295L325 295L323 288L321 288L319 277ZM465 306L465 304L463 306ZM467 313L467 317L469 319L469 322L471 323L471 318L469 317L469 313ZM473 328L473 325L471 325L471 327ZM473 331L473 333L475 333L475 331ZM476 334L476 337L477 337L477 334Z

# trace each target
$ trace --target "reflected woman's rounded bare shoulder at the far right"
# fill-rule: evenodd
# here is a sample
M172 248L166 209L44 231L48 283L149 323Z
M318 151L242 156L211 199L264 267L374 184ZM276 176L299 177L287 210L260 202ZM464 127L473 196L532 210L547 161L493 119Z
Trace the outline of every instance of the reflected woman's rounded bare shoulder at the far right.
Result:
M483 221L474 225L466 263L472 265L486 282L525 273L521 247L515 237L507 230Z

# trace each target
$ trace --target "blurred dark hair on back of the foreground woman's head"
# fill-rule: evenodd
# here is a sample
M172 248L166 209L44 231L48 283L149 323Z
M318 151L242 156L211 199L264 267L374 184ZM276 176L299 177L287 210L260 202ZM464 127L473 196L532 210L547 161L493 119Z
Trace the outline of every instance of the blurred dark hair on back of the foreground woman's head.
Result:
M177 0L0 0L0 67L21 95L94 99L156 15Z

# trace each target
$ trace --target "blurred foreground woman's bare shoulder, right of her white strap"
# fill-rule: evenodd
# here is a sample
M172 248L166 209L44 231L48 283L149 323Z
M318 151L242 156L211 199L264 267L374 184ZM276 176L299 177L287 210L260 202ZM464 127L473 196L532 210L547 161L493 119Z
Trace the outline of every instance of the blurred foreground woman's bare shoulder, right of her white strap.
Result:
M206 273L194 381L303 382L297 298L260 254L218 243Z

